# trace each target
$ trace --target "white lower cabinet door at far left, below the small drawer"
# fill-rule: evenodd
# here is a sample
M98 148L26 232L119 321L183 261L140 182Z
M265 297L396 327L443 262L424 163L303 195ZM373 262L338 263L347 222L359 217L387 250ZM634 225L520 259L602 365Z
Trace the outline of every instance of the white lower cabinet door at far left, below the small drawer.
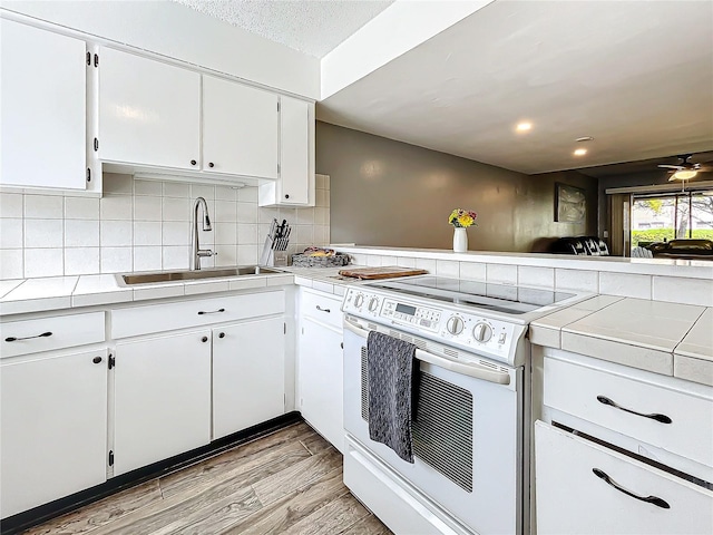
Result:
M106 480L106 353L0 366L2 518Z

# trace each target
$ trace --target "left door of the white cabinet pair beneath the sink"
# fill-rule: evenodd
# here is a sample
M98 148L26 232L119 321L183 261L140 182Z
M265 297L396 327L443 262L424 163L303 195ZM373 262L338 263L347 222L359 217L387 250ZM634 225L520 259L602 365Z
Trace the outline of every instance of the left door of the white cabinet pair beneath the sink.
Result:
M211 441L211 332L116 344L114 474Z

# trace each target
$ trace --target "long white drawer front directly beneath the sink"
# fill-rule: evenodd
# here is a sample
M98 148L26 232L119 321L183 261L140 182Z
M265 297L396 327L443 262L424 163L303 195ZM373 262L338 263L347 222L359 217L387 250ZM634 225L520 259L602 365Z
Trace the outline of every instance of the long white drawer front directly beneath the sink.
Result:
M282 314L285 296L275 292L226 295L111 311L111 338L203 327L261 315Z

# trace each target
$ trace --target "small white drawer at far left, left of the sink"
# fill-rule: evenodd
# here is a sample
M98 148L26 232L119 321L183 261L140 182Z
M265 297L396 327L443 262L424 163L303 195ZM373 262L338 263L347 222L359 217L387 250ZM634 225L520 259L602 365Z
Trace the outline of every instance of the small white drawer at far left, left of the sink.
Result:
M0 335L0 358L104 342L104 312L3 321Z

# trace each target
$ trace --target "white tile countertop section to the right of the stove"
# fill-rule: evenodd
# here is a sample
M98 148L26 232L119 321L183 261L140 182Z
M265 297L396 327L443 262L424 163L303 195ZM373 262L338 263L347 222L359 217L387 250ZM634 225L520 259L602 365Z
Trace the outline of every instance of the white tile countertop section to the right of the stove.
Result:
M530 341L713 386L713 309L599 295L530 323Z

